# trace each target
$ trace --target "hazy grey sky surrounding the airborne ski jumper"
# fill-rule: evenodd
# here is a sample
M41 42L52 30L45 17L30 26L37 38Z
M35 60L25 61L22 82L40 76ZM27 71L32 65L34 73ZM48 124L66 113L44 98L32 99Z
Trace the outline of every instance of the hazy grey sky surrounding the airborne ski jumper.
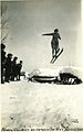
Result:
M7 52L23 61L23 70L82 66L81 64L81 1L27 0L8 1L9 37ZM42 36L59 29L60 47L64 52L55 62L51 59L51 36Z

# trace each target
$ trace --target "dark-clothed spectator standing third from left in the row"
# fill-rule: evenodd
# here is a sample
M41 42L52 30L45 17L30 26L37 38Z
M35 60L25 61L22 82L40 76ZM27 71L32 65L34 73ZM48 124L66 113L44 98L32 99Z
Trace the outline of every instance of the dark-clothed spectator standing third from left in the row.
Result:
M11 80L14 80L14 78L17 77L17 59L18 57L14 57L12 61L12 66L11 66Z

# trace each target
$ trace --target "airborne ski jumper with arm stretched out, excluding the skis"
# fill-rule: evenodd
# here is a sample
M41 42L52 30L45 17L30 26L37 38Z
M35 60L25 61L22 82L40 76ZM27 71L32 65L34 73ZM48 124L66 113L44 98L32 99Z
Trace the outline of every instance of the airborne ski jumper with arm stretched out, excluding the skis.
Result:
M60 51L59 47L59 40L61 40L59 30L55 29L54 33L48 33L48 34L42 34L42 35L52 35L52 41L51 41L51 47L52 47L52 57L55 57L58 52Z

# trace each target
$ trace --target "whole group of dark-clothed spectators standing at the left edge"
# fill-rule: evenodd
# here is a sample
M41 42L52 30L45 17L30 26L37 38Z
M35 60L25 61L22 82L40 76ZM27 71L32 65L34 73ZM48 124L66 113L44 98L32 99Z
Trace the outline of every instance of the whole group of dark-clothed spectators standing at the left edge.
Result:
M20 80L22 61L6 52L6 45L1 43L1 84Z

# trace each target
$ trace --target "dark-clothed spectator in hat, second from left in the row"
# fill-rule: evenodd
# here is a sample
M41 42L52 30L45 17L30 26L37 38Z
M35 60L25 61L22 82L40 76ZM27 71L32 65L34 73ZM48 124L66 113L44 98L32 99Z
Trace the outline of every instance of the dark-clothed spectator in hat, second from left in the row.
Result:
M9 53L7 61L6 61L6 81L9 82L10 77L11 77L11 67L12 67L12 54Z

